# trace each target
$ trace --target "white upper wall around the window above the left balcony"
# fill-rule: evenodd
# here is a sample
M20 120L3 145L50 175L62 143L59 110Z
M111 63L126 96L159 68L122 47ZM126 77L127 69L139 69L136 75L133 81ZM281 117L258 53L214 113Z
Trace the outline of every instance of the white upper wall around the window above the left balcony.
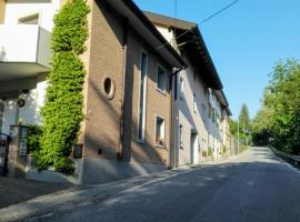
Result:
M60 0L36 0L34 3L7 0L4 24L18 24L18 20L32 13L40 13L40 26L48 31L53 28L53 16L60 8ZM32 2L32 1L30 1Z

